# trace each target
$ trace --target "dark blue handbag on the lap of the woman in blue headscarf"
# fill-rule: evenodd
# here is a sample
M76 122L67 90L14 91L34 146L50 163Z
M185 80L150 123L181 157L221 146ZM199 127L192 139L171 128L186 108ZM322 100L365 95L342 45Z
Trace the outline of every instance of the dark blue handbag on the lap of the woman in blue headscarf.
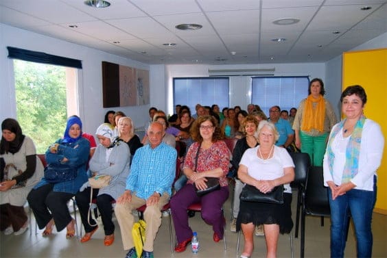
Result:
M68 165L49 164L45 167L45 179L49 183L62 183L77 177L77 169Z

